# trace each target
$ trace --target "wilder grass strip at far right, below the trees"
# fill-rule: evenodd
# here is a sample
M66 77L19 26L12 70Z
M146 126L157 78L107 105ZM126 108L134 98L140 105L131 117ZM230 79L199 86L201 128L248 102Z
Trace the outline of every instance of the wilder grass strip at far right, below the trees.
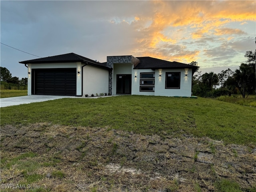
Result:
M234 104L239 104L242 106L252 106L256 107L256 96L249 95L246 98L242 98L242 95L232 95L232 96L220 96L217 100L230 102Z

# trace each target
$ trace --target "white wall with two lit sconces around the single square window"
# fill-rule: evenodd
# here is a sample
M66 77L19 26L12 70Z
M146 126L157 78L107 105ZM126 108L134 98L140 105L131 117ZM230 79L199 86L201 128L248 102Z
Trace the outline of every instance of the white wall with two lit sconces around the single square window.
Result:
M180 72L180 89L166 89L166 72ZM187 77L186 77L187 73ZM161 74L161 77L159 76ZM155 96L191 96L192 69L156 70Z

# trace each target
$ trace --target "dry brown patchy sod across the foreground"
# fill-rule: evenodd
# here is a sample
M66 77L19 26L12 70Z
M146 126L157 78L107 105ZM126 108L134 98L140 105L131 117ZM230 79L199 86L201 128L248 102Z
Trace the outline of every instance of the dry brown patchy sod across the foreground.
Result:
M22 158L28 152L34 156ZM41 191L217 191L221 179L256 188L255 149L108 127L4 126L1 162L1 184L26 183Z

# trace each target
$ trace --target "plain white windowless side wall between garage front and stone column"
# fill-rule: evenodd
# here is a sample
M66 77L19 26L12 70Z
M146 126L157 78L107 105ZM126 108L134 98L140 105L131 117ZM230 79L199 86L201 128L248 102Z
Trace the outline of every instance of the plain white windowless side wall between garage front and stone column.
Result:
M84 94L108 93L108 70L86 65L83 67Z

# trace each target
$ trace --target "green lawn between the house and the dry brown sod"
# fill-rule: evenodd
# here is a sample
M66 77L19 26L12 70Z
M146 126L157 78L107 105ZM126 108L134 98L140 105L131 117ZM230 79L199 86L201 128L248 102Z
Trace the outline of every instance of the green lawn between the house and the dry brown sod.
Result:
M1 126L36 122L104 127L139 134L193 134L234 144L256 144L256 108L209 98L117 96L64 98L1 108Z

